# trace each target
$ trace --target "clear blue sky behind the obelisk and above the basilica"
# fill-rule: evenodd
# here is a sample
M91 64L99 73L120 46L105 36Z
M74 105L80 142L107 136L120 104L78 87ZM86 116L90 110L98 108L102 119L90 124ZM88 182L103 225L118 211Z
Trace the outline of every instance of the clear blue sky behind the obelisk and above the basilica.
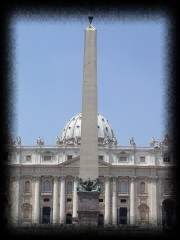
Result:
M23 19L13 24L14 138L53 146L81 112L84 29L87 16ZM149 146L165 134L166 31L163 18L103 21L97 29L98 113L111 124L118 146Z

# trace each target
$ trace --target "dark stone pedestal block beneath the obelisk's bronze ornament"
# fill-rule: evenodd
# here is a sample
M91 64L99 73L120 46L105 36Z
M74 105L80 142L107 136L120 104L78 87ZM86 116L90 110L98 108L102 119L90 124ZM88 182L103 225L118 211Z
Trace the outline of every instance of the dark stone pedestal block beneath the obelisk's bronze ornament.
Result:
M78 209L81 227L98 226L99 192L78 192Z

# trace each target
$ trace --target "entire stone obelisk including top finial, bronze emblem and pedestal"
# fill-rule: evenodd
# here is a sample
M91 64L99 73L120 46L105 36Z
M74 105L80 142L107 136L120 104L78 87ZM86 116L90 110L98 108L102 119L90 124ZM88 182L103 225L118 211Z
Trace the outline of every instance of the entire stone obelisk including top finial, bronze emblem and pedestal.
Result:
M96 29L85 29L82 90L81 146L78 217L81 225L97 226L99 214L98 129L97 129L97 48Z

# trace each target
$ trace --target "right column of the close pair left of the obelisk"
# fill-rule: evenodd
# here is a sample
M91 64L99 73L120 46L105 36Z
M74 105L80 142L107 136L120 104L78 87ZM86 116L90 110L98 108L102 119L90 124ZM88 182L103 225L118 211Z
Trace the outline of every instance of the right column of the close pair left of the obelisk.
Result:
M60 188L60 223L65 223L65 176L60 177L61 188Z

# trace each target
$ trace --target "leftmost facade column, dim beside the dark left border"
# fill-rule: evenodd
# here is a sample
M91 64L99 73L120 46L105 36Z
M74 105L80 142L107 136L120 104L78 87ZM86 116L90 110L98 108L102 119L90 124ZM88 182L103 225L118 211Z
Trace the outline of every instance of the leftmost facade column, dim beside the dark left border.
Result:
M18 224L19 221L19 180L20 176L11 178L11 221L13 224Z

